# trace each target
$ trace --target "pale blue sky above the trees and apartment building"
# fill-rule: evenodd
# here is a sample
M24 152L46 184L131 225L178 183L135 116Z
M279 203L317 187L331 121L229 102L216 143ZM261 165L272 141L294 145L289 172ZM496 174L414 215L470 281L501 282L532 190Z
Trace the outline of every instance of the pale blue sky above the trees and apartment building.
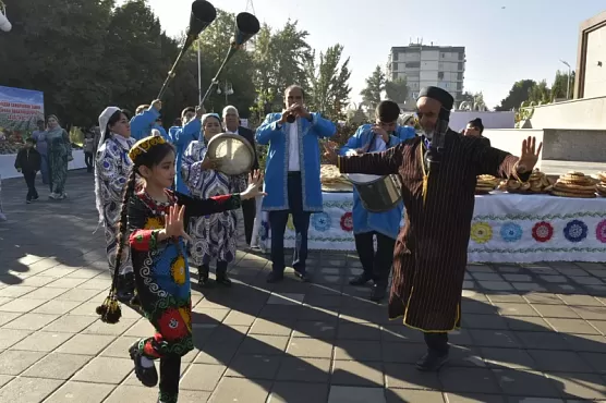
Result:
M230 12L247 5L246 0L210 2ZM186 28L192 0L148 3L169 35ZM606 10L604 0L254 0L253 5L259 21L272 27L299 20L316 49L343 45L353 101L392 46L422 37L423 44L466 48L465 90L482 90L489 107L518 80L546 78L550 85L556 71L567 69L560 59L574 69L579 24Z

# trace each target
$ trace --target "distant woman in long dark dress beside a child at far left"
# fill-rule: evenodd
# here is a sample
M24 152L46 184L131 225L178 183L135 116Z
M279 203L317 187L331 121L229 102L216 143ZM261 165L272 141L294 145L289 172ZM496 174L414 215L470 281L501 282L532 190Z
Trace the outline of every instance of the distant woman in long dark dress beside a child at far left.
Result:
M68 163L73 160L72 145L68 132L61 127L59 119L54 114L48 117L47 125L46 141L50 176L50 195L48 197L62 200L68 197L65 181L68 180Z

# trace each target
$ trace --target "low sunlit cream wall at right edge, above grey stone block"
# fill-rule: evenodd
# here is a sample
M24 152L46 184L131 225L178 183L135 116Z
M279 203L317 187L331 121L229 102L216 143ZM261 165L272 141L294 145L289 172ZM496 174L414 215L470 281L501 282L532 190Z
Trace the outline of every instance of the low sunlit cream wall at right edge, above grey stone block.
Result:
M606 130L606 96L534 107L531 124L532 129Z

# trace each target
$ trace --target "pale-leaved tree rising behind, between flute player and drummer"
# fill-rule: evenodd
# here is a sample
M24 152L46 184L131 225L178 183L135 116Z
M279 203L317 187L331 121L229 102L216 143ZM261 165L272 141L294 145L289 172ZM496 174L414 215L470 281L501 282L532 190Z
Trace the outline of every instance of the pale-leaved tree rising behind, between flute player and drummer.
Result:
M349 58L339 66L342 45L335 45L319 53L319 63L316 66L315 58L307 62L307 105L331 120L343 120L343 108L349 103L351 87L349 78ZM314 56L315 52L312 53Z

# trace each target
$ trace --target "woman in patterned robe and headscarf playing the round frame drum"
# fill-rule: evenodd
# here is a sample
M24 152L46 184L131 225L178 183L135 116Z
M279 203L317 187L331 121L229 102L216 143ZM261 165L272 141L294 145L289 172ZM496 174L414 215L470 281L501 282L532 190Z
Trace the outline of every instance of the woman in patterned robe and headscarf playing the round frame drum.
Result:
M208 198L218 195L239 193L245 188L246 175L228 176L216 170L216 161L206 156L206 145L215 135L221 133L221 120L216 113L202 117L204 137L190 143L183 154L181 174L192 196ZM210 261L217 260L217 282L230 286L227 276L228 264L235 258L237 232L235 210L206 217L192 218L189 223L192 237L192 260L198 266L198 283L208 284Z

